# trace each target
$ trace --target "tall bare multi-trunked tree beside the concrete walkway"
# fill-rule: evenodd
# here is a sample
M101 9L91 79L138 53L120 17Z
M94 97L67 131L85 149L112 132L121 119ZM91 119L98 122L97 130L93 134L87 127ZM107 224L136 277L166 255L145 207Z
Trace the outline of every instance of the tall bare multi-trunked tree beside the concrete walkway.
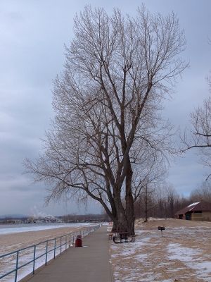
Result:
M25 172L45 181L46 204L91 197L114 229L134 233L141 188L163 180L176 153L172 125L160 112L187 67L179 58L184 31L174 13L155 16L144 6L136 18L86 6L75 16L74 31L65 70L54 81L56 117L44 154L25 159Z

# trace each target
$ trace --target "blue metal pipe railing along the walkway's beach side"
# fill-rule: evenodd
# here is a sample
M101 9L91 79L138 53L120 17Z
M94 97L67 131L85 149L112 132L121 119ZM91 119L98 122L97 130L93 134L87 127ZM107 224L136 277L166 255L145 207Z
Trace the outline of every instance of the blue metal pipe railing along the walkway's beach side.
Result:
M100 226L101 224L98 224L96 226L89 226L79 231L75 231L72 233L68 233L66 235L62 235L57 238L46 240L41 243L31 245L29 247L24 247L20 250L9 252L6 255L1 255L0 256L0 280L1 278L4 278L14 273L14 281L17 282L18 270L23 269L23 267L27 266L28 264L32 264L32 274L34 274L34 271L37 268L35 263L38 259L43 258L41 265L43 264L46 265L50 259L55 259L56 255L59 255L64 250L67 250L67 246L71 247L71 245L74 245L75 238L77 238L77 235L82 235L82 238L83 238L84 236L87 236L89 233L98 229ZM56 250L59 251L57 254L56 254ZM49 253L51 253L51 258L48 257ZM20 257L20 255L22 255L22 257ZM23 263L21 264L22 260L23 260ZM26 260L27 262L25 262ZM1 267L2 266L4 267L4 265L8 265L8 263L14 264L15 268L12 268L10 271L8 271L5 274L1 274L2 273Z

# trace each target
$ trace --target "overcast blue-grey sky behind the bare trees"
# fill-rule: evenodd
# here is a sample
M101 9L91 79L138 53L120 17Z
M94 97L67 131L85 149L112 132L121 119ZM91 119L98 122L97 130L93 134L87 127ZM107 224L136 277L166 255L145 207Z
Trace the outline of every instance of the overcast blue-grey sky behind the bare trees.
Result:
M118 7L122 13L136 15L144 3L151 13L177 13L185 30L190 61L178 80L177 93L166 103L165 115L177 127L184 128L194 106L208 97L206 75L211 69L210 0L1 0L0 1L0 215L35 213L63 215L78 211L75 203L43 207L44 184L30 186L31 176L23 175L25 157L35 159L41 152L41 140L53 118L52 80L63 70L64 44L73 38L73 18L84 5L103 7L108 13ZM172 164L167 182L179 194L189 192L205 180L203 168L193 151ZM35 207L34 207L35 206ZM95 204L88 212L101 212Z

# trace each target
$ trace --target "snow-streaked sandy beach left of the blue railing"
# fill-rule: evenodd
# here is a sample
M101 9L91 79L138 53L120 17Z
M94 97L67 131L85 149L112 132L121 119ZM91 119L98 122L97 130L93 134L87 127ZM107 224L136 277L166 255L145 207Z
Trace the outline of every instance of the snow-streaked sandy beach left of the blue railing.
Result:
M41 224L12 224L10 226L0 225L0 255L5 255L9 252L20 250L24 247L29 247L46 240L51 240L62 235L66 235L83 228L89 227L90 223L41 223ZM65 242L65 238L63 238ZM58 240L58 244L60 240ZM49 248L53 247L54 240L49 244ZM46 244L41 244L37 247L36 257L43 254L46 249ZM33 247L21 251L19 253L19 265L25 264L33 259ZM63 249L65 250L65 246ZM60 253L60 248L56 250L56 255ZM53 252L48 255L48 261L53 258ZM12 269L15 269L16 255L11 255L4 259L0 258L0 276ZM38 259L35 264L37 269L45 262L45 256ZM25 266L18 271L18 281L25 277L27 274L32 273L32 264ZM1 278L1 281L12 282L14 281L14 273Z

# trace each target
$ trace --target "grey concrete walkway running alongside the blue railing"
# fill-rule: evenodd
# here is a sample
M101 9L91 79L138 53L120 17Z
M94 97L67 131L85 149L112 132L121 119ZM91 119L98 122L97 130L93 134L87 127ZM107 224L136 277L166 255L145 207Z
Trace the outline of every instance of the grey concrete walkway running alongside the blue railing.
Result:
M114 282L107 226L82 238L83 247L70 247L21 282Z

